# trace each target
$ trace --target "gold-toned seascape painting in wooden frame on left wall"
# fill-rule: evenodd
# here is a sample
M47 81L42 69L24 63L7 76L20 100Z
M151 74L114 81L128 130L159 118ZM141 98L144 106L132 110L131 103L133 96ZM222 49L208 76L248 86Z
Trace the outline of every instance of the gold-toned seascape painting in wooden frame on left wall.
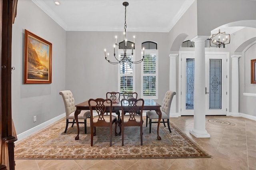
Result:
M52 83L52 43L25 30L24 84Z

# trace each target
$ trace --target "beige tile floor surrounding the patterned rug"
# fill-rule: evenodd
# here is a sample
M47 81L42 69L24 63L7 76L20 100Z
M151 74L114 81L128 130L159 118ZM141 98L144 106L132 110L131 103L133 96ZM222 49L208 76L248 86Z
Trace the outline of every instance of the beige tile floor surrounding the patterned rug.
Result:
M192 116L170 118L211 158L131 160L15 160L16 170L256 170L256 121L241 117L206 116L236 124L212 125L206 121L210 138L195 138Z

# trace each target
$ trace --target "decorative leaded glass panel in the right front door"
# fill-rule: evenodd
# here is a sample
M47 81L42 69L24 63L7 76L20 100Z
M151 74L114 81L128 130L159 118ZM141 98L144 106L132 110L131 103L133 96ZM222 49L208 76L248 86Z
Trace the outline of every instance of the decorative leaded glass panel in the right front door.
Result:
M210 59L209 109L221 109L221 59Z

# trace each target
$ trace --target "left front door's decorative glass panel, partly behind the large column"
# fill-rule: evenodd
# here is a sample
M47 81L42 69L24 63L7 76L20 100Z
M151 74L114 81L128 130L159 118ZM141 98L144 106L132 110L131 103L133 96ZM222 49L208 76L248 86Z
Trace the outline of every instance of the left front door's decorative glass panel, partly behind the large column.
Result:
M194 109L195 59L186 59L186 109Z

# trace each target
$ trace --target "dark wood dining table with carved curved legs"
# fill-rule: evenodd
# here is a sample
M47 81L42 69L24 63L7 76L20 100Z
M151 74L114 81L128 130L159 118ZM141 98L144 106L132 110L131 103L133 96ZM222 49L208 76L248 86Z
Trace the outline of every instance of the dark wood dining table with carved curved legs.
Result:
M79 140L78 115L80 114L81 110L90 110L88 101L89 100L76 105L75 120L76 120L76 126L77 126L77 136L75 137L75 140ZM120 99L112 100L112 113L114 113L115 111L122 110L120 101L121 101ZM95 110L95 107L93 105L91 105L91 106L92 106L92 109ZM140 108L141 104L138 102L137 106ZM123 107L124 107L124 105L123 105ZM157 139L158 140L161 140L161 137L159 136L159 126L160 126L160 121L162 119L162 112L160 110L160 107L161 107L161 105L156 103L153 99L144 99L143 110L155 110L158 115L158 125L157 125ZM110 105L106 104L106 110L110 110Z

